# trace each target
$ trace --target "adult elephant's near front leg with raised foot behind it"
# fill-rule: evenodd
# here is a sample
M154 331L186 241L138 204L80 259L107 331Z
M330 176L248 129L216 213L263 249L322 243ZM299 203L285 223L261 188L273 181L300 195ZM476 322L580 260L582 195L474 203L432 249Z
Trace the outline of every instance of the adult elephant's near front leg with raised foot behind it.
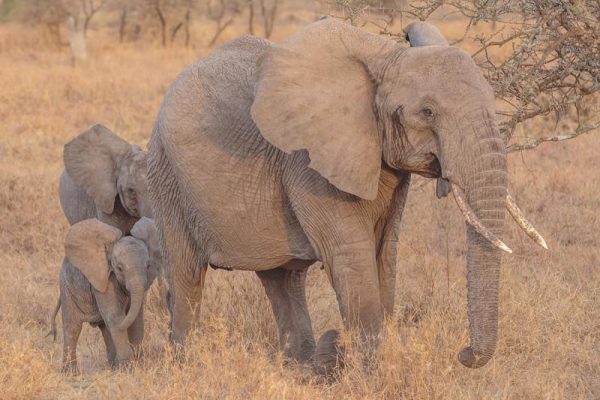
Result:
M325 268L336 293L344 326L357 333L358 346L366 356L379 343L383 325L375 246L372 241L341 246L327 257ZM318 372L328 374L340 364L343 349L339 333L328 331L321 336L314 361Z

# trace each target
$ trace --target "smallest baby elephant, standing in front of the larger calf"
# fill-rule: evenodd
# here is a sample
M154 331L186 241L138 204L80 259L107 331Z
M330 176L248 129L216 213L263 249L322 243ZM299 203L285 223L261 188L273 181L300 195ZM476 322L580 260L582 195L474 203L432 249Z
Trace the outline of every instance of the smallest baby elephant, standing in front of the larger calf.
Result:
M154 222L140 219L122 236L119 229L87 219L71 227L60 271L60 298L51 320L62 307L63 371L77 371L77 340L84 322L102 331L111 366L131 359L132 346L144 337L145 293L159 268Z

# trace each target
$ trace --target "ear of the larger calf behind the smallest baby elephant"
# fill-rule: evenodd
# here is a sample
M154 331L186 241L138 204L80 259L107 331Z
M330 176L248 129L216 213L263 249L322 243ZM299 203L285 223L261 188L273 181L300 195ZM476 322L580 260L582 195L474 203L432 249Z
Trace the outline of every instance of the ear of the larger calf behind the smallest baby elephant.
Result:
M130 149L129 143L100 124L65 145L63 157L67 174L105 214L113 212L117 166Z

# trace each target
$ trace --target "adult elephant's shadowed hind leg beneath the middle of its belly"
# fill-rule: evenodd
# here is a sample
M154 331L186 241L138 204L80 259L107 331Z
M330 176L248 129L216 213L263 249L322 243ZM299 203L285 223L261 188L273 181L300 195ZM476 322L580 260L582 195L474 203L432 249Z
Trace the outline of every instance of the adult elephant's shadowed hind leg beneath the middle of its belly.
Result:
M279 345L286 357L307 362L315 351L308 306L306 273L308 268L276 268L257 272L279 329Z

